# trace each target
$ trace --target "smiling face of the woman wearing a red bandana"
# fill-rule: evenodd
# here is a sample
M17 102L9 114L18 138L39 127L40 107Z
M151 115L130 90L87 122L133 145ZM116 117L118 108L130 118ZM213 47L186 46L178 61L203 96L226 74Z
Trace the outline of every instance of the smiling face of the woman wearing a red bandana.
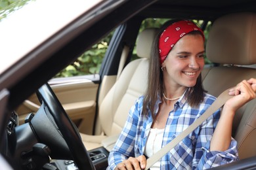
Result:
M163 62L164 80L170 86L193 87L204 66L202 35L184 35Z

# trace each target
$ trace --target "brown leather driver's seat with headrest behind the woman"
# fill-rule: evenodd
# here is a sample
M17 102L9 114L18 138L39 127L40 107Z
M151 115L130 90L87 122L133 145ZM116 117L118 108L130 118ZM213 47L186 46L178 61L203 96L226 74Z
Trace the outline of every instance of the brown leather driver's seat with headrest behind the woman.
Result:
M203 87L216 97L238 82L256 78L256 14L238 13L217 19L209 32L207 58L219 67L207 68ZM232 135L240 159L256 155L256 99L236 112Z

